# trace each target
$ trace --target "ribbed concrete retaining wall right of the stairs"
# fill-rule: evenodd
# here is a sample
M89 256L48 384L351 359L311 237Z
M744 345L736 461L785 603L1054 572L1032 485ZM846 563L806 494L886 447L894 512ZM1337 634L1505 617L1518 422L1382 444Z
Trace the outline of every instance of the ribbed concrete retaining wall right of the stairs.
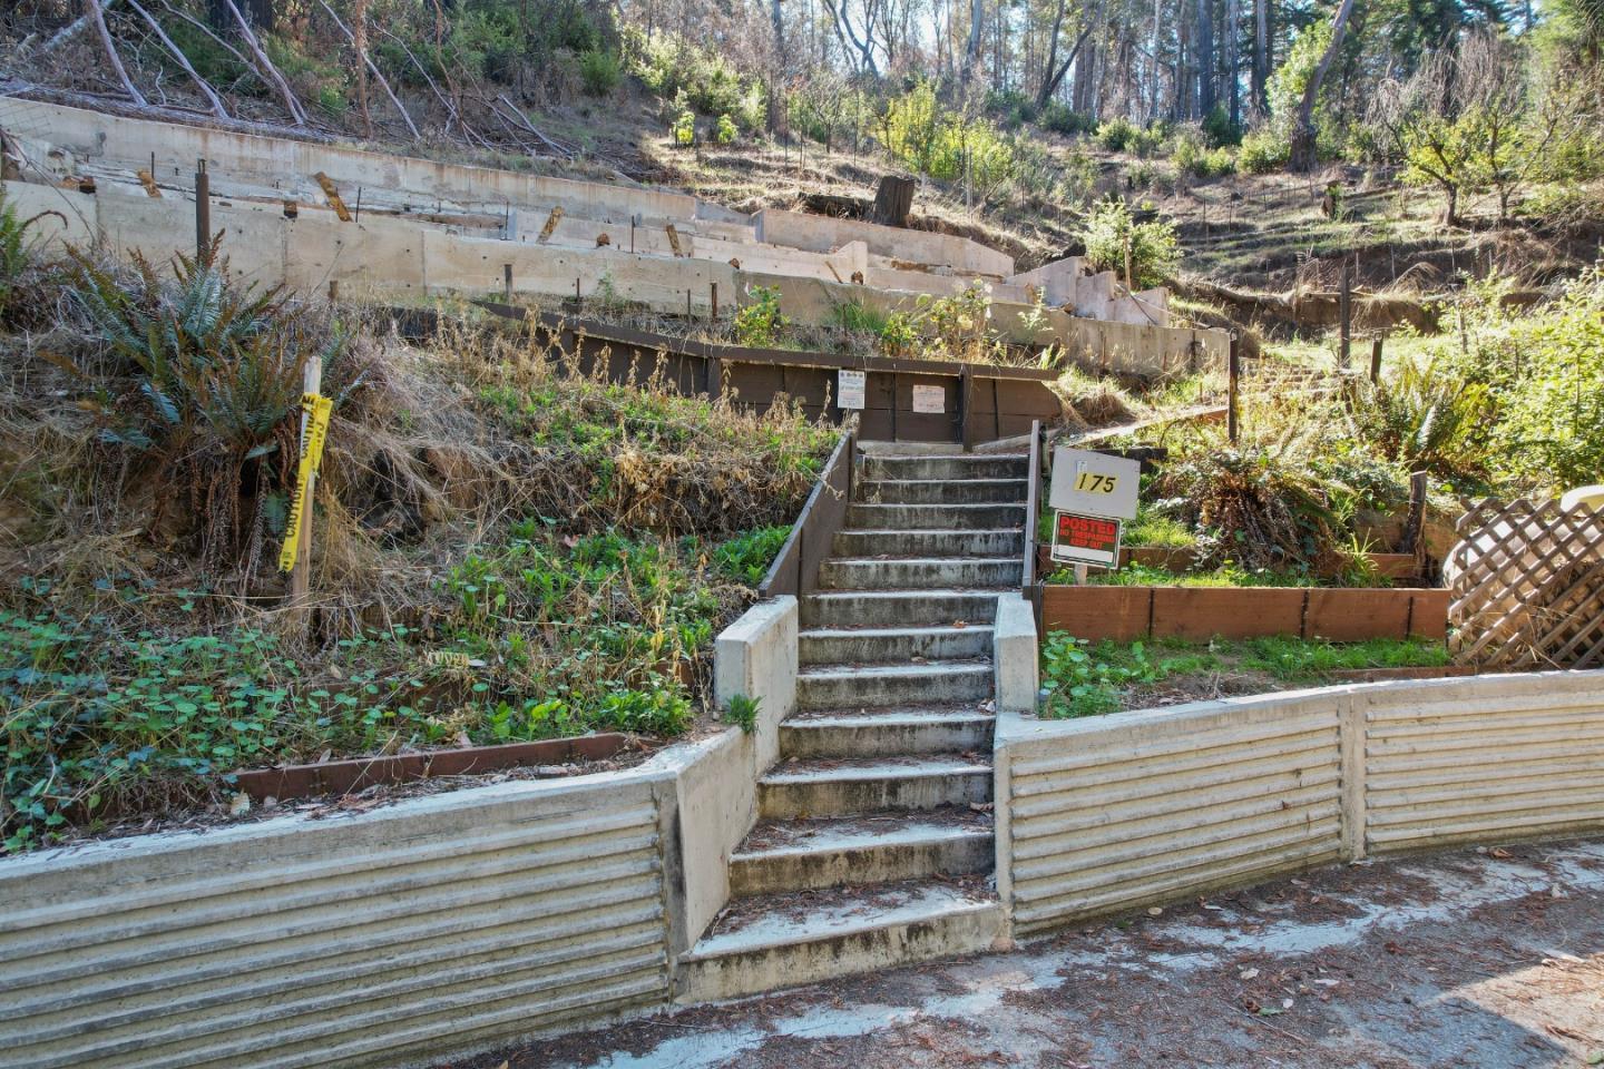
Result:
M1014 930L1338 859L1604 830L1604 672L1379 683L1078 721L1004 713Z

